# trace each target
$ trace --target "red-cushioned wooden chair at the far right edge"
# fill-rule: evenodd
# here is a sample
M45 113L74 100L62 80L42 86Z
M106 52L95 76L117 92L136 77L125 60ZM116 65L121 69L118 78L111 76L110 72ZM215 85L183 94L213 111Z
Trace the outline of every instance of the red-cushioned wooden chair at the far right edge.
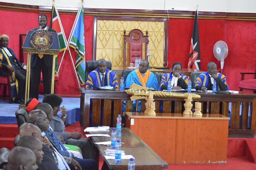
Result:
M246 89L246 90L253 90L253 93L256 93L256 69L255 69L255 73L240 73L240 74L242 74L241 81L239 82L240 91L243 91L243 89ZM244 80L245 74L254 74L254 79Z

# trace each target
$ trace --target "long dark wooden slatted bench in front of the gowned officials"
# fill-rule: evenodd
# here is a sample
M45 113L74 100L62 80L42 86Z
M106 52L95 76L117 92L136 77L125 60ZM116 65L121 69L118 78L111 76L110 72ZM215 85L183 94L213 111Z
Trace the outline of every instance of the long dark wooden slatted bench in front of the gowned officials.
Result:
M122 113L123 99L126 99L125 111L132 111L132 102L130 100L130 95L128 95L124 91L101 91L93 90L91 88L79 88L79 91L81 92L80 125L83 128L89 127L90 99L93 99L93 126L100 125L99 113L102 103L104 103L104 125L110 125L111 121L114 122L114 125L116 124L117 115ZM236 137L254 137L254 134L256 133L256 94L244 91L239 92L239 94L212 94L205 92L193 93L201 95L200 99L196 99L194 101L202 103L203 113L223 114L228 117L230 105L229 102L231 102L231 126L229 129L229 135ZM183 98L154 97L154 99L154 102L156 102L156 112L159 112L160 101L163 101L164 113L183 112ZM145 100L142 100L141 103L141 112L144 112ZM241 121L240 104L242 104ZM174 107L171 107L171 105L173 105ZM250 110L249 105L251 106Z

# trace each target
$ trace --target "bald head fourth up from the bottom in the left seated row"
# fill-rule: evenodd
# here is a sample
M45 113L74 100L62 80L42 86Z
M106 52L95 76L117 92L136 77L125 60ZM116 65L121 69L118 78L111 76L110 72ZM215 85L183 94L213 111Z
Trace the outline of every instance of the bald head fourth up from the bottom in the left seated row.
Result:
M51 107L51 106L50 106ZM40 128L42 132L45 132L49 128L49 121L47 115L42 110L32 110L28 114L28 123L32 123Z

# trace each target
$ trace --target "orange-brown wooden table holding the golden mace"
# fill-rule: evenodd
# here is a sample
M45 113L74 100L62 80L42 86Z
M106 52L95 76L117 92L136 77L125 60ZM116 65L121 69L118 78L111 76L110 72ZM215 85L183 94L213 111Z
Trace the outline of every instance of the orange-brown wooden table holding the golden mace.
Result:
M125 114L126 127L168 164L226 163L229 119L222 114Z

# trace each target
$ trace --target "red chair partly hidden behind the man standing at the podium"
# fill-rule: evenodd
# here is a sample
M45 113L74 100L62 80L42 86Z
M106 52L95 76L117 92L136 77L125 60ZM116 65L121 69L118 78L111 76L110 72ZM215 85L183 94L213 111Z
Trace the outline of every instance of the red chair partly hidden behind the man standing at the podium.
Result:
M27 57L25 57L27 55L27 53L25 53L23 50L22 50L22 45L25 41L25 37L26 37L27 34L19 34L19 53L20 53L20 63L25 63L27 64ZM56 63L58 64L58 63ZM56 75L54 75L54 93L55 93L55 83L58 81L58 77ZM41 72L41 77L40 77L40 83L44 83L43 81L43 75L42 75L42 72ZM41 87L41 86L40 86ZM39 88L40 89L40 88ZM44 94L43 91L39 91L40 94Z

